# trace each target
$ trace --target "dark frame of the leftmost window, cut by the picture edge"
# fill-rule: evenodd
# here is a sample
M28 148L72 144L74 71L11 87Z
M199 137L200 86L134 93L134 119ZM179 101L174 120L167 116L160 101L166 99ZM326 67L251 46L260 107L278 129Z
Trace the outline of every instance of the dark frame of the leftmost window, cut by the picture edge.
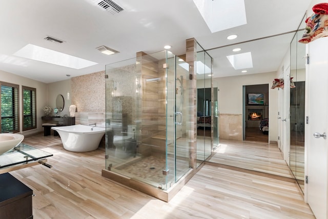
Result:
M1 123L0 123L0 132L4 133L4 132L19 132L19 85L16 84L12 84L12 83L8 83L8 82L2 82L0 81L0 88L2 90L2 86L6 86L6 87L11 87L13 89L13 96L12 96L12 101L13 101L13 116L9 116L13 118L13 129L12 130L6 130L3 131L2 128L2 120L3 120L3 116L2 116L2 103L0 104L0 116L1 116ZM15 90L16 89L16 90ZM1 101L2 101L2 92L0 93L0 97L1 97ZM8 116L6 116L6 118L8 118Z

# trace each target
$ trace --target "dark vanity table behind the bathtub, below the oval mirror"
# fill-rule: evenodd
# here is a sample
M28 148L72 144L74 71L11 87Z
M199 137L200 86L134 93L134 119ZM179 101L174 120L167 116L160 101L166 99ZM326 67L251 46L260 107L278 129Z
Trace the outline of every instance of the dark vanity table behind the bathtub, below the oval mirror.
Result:
M42 116L42 121L45 122L42 124L44 127L44 136L51 134L51 127L53 126L72 126L75 125L75 117L70 116ZM58 135L54 132L54 135Z

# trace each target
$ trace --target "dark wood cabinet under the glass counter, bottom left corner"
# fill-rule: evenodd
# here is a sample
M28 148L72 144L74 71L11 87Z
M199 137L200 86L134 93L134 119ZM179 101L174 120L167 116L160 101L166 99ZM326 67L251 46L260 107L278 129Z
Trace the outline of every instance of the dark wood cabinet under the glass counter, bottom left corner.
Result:
M9 173L0 174L0 218L33 218L33 190Z

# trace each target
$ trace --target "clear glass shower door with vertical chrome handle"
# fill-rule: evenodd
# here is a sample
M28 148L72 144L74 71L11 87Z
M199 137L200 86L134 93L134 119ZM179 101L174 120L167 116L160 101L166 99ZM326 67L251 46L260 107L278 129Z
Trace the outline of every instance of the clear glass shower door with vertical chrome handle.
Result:
M169 55L169 54L168 54ZM168 182L177 182L189 166L189 65L174 56L167 59L167 169ZM173 144L170 139L173 138ZM170 187L170 186L168 186Z

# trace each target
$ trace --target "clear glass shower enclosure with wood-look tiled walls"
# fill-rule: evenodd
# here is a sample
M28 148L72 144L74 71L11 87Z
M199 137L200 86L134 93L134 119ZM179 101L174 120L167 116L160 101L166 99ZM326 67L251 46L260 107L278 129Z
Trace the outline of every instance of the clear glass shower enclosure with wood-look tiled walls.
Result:
M168 190L191 169L188 63L138 52L105 77L106 170Z

